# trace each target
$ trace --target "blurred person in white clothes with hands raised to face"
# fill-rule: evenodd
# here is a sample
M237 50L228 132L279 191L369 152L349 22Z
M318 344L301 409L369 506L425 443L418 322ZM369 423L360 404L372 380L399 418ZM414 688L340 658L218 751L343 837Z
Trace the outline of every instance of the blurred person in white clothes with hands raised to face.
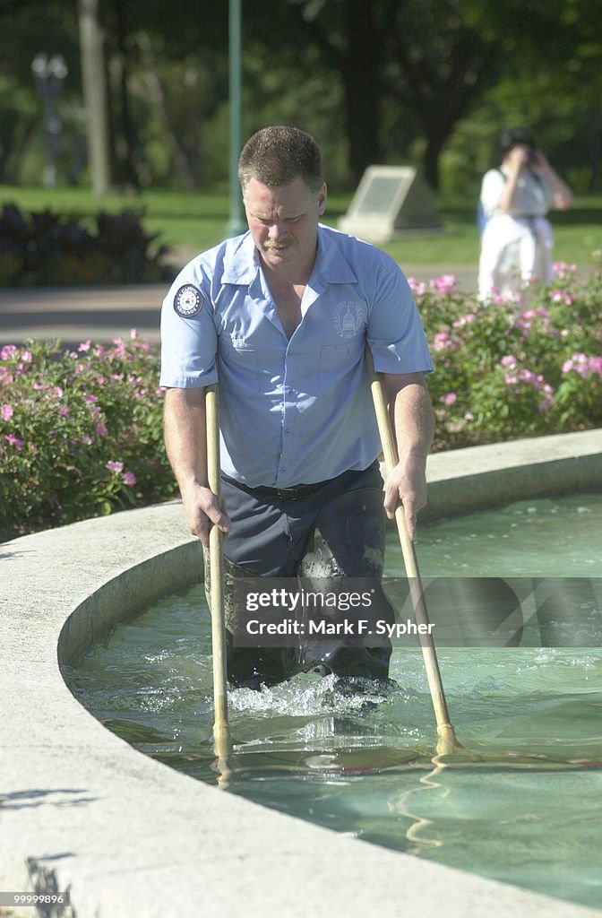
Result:
M480 206L485 218L479 258L478 294L483 302L513 297L531 280L552 280L549 210L573 203L571 189L529 130L503 131L500 165L485 173Z

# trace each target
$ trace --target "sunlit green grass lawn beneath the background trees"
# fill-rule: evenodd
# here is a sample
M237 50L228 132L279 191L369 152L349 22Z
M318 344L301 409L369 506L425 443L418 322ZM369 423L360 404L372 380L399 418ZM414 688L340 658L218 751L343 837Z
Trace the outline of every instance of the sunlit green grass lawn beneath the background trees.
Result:
M332 195L324 221L336 226L351 200L350 195ZM139 210L147 231L159 234L159 241L173 246L172 261L184 263L196 252L217 244L226 235L229 197L217 192L153 189L138 195L113 195L95 198L86 188L18 187L0 185L0 205L15 203L24 211L50 208L55 212L92 217L99 210L115 212ZM478 260L478 233L475 225L476 202L459 197L440 196L439 208L444 230L424 238L394 240L383 246L398 263L429 265L444 274L457 265ZM602 195L578 197L574 207L552 213L557 261L586 267L593 262L592 252L602 249Z

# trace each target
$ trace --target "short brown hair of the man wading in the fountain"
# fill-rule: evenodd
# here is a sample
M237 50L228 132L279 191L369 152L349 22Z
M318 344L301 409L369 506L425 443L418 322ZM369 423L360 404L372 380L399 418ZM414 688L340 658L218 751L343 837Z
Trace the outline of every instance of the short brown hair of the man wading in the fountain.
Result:
M303 130L282 125L262 128L242 148L239 180L243 196L251 178L268 188L281 188L299 176L316 195L324 185L318 144Z

